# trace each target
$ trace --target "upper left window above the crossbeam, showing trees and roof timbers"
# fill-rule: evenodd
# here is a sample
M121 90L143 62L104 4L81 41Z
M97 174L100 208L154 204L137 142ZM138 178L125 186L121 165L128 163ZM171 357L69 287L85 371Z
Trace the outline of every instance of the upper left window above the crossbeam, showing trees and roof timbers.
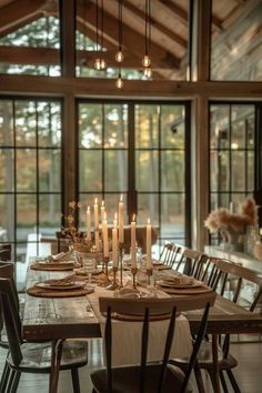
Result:
M0 73L60 75L59 1L4 2Z

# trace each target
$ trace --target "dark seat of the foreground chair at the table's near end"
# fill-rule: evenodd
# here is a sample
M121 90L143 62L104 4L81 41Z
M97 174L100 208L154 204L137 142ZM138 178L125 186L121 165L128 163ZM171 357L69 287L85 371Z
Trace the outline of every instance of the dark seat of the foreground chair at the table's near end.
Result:
M144 393L157 393L161 364L148 364L145 372ZM107 370L98 370L91 373L93 389L98 393L108 393ZM184 374L177 366L169 365L164 380L164 393L180 392L183 383ZM139 392L140 366L121 366L112 369L112 393L137 393ZM188 386L187 393L193 392Z

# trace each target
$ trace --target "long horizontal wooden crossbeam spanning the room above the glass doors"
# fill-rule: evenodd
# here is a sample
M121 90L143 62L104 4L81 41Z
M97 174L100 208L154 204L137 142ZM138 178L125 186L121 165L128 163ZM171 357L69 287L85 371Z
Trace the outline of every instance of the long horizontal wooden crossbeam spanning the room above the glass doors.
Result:
M81 97L122 97L122 98L181 98L202 95L209 99L261 100L262 82L174 82L125 80L123 90L115 88L115 79L101 78L50 78L37 75L0 74L2 94L49 94L63 97L72 93Z

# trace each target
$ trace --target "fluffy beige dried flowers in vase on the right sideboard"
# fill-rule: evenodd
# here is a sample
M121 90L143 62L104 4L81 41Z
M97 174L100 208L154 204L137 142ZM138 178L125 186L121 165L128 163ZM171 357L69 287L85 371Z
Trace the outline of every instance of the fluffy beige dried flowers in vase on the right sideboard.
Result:
M248 225L258 224L258 206L252 198L248 198L241 205L239 214L231 213L228 209L220 208L212 211L204 226L211 233L220 232L223 240L228 243L240 242L240 235L245 233Z

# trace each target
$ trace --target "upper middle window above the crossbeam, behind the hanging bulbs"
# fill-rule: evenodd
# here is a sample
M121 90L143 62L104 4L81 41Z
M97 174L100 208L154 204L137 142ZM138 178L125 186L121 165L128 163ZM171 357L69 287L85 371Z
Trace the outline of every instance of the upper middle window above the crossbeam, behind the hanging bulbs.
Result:
M118 78L119 66L123 79L147 80L142 59L145 52L145 2L122 2L123 62L118 63L119 1L77 0L77 75ZM103 17L102 17L103 14ZM102 21L103 18L103 21ZM153 80L185 80L188 64L189 1L161 2L150 0L149 56ZM103 27L103 28L102 28ZM103 32L103 34L102 34ZM103 59L104 69L94 68L95 59Z

